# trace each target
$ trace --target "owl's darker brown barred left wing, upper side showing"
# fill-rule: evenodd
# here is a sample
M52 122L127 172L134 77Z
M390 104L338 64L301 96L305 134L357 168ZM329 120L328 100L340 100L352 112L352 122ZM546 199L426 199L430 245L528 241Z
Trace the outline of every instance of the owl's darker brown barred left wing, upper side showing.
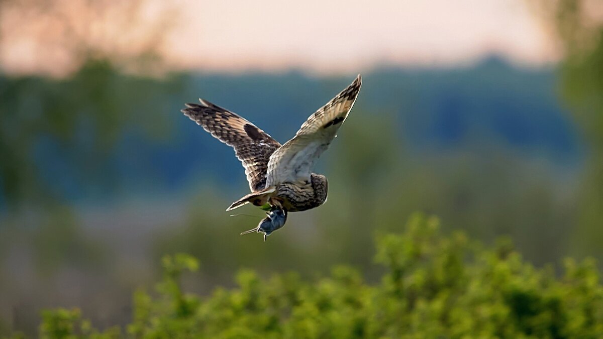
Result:
M191 120L201 125L219 141L235 149L241 160L251 192L266 185L270 155L280 147L268 133L240 115L200 99L201 104L185 104L182 110Z

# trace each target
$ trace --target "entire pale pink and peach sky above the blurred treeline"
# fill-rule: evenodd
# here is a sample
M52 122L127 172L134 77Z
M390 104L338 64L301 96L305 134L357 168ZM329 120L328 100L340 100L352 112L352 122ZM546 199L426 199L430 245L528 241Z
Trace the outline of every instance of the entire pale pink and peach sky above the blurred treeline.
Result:
M69 30L90 45L127 54L158 43L175 69L337 73L375 65L465 65L488 54L527 65L559 57L525 0L148 0L140 1L136 18L121 19L125 2L99 2L111 4L109 10L92 17L83 13L86 2L55 1L63 10L50 19L46 12L11 10L9 2L0 14L2 68L52 74L72 68L65 28L57 27L74 17Z

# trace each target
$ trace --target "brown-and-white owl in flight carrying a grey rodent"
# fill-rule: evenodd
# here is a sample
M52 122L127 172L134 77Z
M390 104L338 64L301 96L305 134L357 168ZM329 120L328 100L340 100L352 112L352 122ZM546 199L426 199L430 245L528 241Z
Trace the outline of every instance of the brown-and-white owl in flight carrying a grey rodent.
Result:
M234 148L245 168L251 193L226 211L247 203L268 211L256 228L241 234L264 233L265 241L283 227L288 212L306 211L327 200L327 178L312 173L312 168L346 121L361 84L358 75L350 86L314 112L284 145L247 119L209 101L200 99L200 104L185 104L182 113Z

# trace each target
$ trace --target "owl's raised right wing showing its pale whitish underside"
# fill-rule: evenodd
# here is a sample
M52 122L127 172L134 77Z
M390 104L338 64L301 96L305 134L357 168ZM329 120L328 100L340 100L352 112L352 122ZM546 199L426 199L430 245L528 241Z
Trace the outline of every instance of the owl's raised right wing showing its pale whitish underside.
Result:
M360 75L301 125L295 137L270 156L266 186L285 182L309 182L314 163L335 138L350 113L360 86Z

